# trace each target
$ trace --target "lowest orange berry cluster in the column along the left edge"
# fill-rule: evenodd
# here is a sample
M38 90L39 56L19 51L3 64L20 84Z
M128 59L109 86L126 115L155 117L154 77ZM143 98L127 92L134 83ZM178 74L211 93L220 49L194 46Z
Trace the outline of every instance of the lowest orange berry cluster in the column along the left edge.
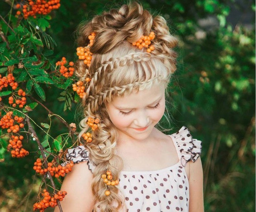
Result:
M9 144L7 146L7 151L11 151L12 157L25 157L27 155L29 155L29 151L25 150L22 147L22 140L23 140L23 136L14 136L12 135L12 137L9 140ZM11 150L12 149L12 150Z

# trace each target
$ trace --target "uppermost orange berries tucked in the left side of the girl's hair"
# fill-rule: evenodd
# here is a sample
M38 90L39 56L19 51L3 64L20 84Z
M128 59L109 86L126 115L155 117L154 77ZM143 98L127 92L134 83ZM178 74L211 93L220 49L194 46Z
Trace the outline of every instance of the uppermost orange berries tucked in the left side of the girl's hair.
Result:
M90 43L87 45L87 47L77 47L77 56L79 59L84 61L84 64L89 67L92 60L92 52L90 52L90 46L93 44L95 33L91 33L88 38Z

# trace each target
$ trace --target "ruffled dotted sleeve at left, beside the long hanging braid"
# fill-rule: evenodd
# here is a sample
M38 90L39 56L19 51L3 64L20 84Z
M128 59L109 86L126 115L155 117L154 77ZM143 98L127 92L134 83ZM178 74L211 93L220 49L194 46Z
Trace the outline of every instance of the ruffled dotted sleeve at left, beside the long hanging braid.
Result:
M88 169L93 173L95 165L89 160L89 151L84 146L77 146L72 149L68 149L66 158L72 160L74 163L80 163L87 161Z

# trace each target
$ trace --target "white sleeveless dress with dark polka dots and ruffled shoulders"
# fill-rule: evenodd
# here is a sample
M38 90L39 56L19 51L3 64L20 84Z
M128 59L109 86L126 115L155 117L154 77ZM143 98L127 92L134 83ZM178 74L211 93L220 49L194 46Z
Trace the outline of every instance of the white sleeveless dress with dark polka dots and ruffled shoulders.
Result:
M175 145L179 162L154 171L122 171L119 189L130 212L188 212L189 186L185 172L186 163L195 162L200 156L202 142L193 139L186 127L169 135ZM79 163L87 161L93 172L95 166L89 161L89 152L78 146L69 149L67 158Z

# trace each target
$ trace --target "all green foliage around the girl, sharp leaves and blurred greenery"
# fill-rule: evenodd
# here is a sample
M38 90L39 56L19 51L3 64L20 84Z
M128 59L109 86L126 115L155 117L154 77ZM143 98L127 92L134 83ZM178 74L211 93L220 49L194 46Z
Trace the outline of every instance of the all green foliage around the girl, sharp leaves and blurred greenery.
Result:
M63 55L77 59L73 34L77 25L120 2L62 0L58 10L26 20L15 16L16 2L8 2L1 2L0 74L13 73L17 90L26 91L27 107L10 109L8 97L14 90L7 87L0 91L1 113L13 110L29 117L46 155L58 155L74 142L68 123L78 126L81 111L76 107L80 98L72 90L75 77L62 76L55 62ZM253 211L255 19L251 29L232 26L227 20L233 5L243 9L235 0L141 2L155 14L161 12L180 39L178 70L170 84L172 105L168 106L173 128L184 123L194 138L203 141L205 211ZM254 13L255 3L246 4ZM24 159L11 157L6 151L8 134L5 129L0 134L0 209L5 211L32 208L41 179L32 169L38 145L26 132L20 133L30 151ZM59 188L60 181L54 182Z

